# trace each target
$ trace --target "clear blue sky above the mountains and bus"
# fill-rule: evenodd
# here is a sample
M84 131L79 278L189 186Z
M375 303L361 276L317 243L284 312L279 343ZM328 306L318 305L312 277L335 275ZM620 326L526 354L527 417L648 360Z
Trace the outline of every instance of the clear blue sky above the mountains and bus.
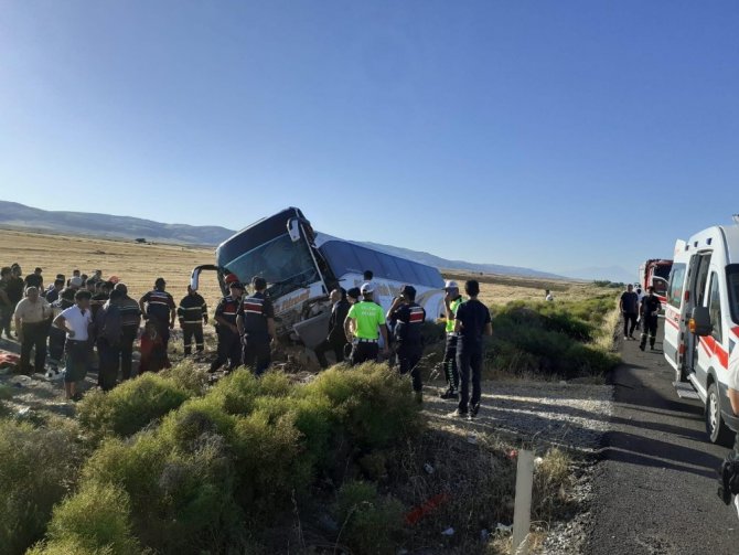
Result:
M563 271L739 212L739 2L0 0L0 198Z

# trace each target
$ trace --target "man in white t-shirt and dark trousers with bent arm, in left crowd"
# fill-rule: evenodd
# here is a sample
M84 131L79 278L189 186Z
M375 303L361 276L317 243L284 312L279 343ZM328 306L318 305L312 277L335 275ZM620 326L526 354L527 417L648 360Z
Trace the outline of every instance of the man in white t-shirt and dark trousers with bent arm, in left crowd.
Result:
M66 331L66 370L64 373L64 391L66 398L79 401L77 384L87 375L89 366L89 325L93 322L89 300L92 293L87 290L77 291L74 296L75 306L62 311L54 320L54 325Z

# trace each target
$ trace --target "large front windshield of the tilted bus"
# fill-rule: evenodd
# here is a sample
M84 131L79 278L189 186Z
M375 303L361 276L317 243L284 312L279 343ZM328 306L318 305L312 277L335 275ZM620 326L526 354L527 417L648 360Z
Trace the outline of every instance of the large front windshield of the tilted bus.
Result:
M301 239L293 243L287 233L233 260L219 260L219 263L247 284L256 276L265 278L267 293L272 299L320 280L306 242Z

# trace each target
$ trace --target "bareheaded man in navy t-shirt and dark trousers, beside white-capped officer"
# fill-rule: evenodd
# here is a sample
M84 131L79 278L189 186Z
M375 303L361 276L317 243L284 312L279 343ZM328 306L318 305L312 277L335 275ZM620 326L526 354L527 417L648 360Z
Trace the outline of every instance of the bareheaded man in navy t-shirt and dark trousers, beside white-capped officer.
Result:
M482 351L483 335L492 335L493 327L490 311L478 300L480 284L470 279L464 284L464 292L469 299L457 309L454 319L454 331L459 334L457 342L457 366L461 387L459 392L459 405L454 416L467 416L474 418L480 410L480 397L482 395ZM472 396L470 396L470 380L472 380Z

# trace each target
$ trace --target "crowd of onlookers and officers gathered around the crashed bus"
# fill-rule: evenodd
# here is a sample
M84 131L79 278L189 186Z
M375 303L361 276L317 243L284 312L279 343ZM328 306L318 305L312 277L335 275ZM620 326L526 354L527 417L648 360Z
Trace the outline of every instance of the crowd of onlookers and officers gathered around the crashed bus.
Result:
M329 332L314 350L319 364L329 366L326 353L333 353L335 362L352 366L388 359L401 374L410 375L420 402L419 362L426 311L416 302L417 291L413 286L404 286L385 311L375 301L372 271L365 271L364 279L361 287L349 290L338 287L331 291ZM267 282L255 277L251 293L247 293L247 287L229 274L225 276L225 285L228 295L215 309L217 351L210 372L228 373L246 366L261 375L271 363L277 340ZM478 281L465 284L467 301L456 281L447 281L445 291L443 365L448 388L441 397L458 401L456 415L474 417L480 404L482 337L492 332L490 313L476 299ZM81 398L79 383L95 363L98 386L104 391L115 387L119 376L124 381L132 377L137 341L139 373L169 367L168 346L178 320L184 355L191 356L193 351L203 353L207 305L190 286L176 305L167 291L167 281L160 277L137 301L129 297L126 284L116 276L104 279L100 270L87 276L75 269L69 278L60 274L44 287L42 268L24 277L18 264L2 268L0 332L20 343L19 371L53 377L63 366L65 394L73 401Z

